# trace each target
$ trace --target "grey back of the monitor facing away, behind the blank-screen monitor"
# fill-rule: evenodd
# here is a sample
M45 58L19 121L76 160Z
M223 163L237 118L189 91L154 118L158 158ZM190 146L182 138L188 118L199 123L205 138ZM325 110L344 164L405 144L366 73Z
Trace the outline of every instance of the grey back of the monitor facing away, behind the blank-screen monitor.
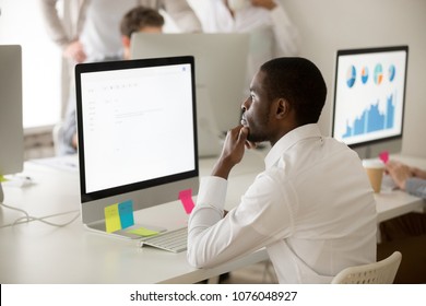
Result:
M246 84L248 34L133 33L130 46L132 58L193 56L199 120L213 119L220 132L239 125L241 103L250 85ZM201 138L202 127L199 130ZM199 141L201 144L202 139Z

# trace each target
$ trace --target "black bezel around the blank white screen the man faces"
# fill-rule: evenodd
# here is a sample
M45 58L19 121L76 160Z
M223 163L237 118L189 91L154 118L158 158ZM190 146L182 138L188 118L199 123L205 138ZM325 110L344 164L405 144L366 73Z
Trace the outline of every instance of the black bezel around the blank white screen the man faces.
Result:
M83 126L83 108L82 108L82 91L81 91L81 75L83 73L113 71L122 69L139 69L149 67L174 66L174 64L190 64L191 69L191 91L192 91L192 125L193 125L193 140L194 140L194 169L175 175L158 177L144 181L122 185L119 187L107 188L104 190L87 192L85 179L85 158L84 158L84 128ZM134 60L119 60L119 61L104 61L79 63L75 66L75 93L76 93L76 122L78 122L78 154L79 154L79 169L80 169L80 195L82 203L91 202L104 198L126 195L132 191L149 189L152 187L173 184L188 178L199 176L198 162L198 138L197 138L197 109L196 109L196 81L194 81L194 58L192 56L181 57L165 57L152 59L134 59Z

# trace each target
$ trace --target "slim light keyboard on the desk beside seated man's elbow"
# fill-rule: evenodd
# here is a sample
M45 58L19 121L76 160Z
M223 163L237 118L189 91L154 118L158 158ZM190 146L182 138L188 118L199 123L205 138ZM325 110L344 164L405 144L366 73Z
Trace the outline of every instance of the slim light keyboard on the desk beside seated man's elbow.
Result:
M141 247L151 246L167 251L180 252L187 249L188 227L159 233L141 240Z

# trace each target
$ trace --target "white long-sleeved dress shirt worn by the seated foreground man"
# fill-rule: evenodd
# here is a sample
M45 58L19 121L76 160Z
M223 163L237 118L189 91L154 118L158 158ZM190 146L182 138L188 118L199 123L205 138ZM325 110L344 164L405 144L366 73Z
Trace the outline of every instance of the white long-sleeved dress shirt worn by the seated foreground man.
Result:
M275 143L265 170L223 217L226 188L220 177L201 180L188 224L194 267L267 247L280 283L329 283L348 266L376 261L376 202L362 163L317 125Z

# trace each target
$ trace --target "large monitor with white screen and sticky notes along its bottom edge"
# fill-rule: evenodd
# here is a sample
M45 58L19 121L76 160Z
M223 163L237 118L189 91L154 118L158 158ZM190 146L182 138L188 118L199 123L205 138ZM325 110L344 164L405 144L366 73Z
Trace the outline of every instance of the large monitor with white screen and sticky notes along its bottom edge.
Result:
M78 64L75 89L81 212L88 228L105 233L105 208L115 203L130 201L138 211L178 200L182 190L197 195L193 57ZM158 231L155 220L141 226Z

